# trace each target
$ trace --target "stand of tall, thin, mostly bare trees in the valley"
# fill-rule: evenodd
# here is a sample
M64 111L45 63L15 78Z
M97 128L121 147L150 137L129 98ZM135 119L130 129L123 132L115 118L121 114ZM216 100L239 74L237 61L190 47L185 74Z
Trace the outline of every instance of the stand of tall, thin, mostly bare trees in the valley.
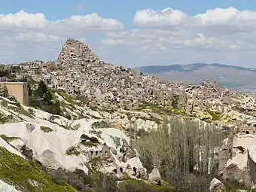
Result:
M157 166L163 180L175 187L174 191L208 191L209 181L218 171L216 164L208 169L208 154L224 139L218 127L207 124L201 129L197 122L171 116L158 130L150 130L139 138L138 133L134 134L130 136L131 147L139 151L140 160L149 172Z

